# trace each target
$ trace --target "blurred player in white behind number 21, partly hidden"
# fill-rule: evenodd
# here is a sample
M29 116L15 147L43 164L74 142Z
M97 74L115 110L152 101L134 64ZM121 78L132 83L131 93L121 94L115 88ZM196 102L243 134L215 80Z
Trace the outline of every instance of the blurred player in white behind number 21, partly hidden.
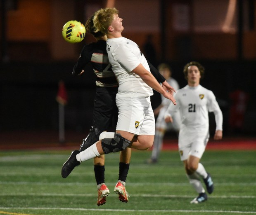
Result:
M171 77L172 70L168 64L159 64L158 70L161 73L161 75L164 76L168 84L173 86L175 90L180 89L178 82L173 77ZM158 107L156 107L156 109L154 109L154 115L158 117L156 119L156 129L152 148L152 155L151 158L147 160L148 164L156 163L158 161L159 154L161 152L163 145L164 134L166 133L166 131L174 130L175 132L177 132L178 135L178 132L180 130L180 112L177 112L173 115L173 123L166 123L164 120L164 114L170 103L171 100L161 95L161 104Z

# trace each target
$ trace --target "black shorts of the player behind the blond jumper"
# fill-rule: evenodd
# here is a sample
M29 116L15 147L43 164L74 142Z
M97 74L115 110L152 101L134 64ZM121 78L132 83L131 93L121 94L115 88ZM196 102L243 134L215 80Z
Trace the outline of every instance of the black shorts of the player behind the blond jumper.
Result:
M96 91L93 110L93 124L102 131L115 131L118 119L116 93Z

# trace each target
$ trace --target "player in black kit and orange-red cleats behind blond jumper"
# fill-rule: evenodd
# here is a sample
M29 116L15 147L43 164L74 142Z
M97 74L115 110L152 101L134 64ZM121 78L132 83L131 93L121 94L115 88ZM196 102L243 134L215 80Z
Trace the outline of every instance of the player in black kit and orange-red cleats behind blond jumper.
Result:
M85 24L86 31L91 33L97 42L92 42L83 47L76 65L73 68L73 75L81 75L84 72L85 65L91 63L94 73L96 75L96 96L93 110L93 125L90 133L83 140L80 150L74 150L71 156L75 156L80 151L83 151L97 142L100 134L103 131L108 131L111 127L113 119L114 126L117 122L118 109L116 107L116 93L118 91L118 83L114 72L111 70L111 65L108 60L106 51L107 36L101 32L94 32L93 16L88 19ZM149 63L149 62L148 62ZM158 72L156 68L149 63L150 71L158 82L164 82L164 77ZM107 132L106 132L107 134ZM104 138L106 138L104 136ZM71 157L70 156L70 157ZM114 191L119 194L119 200L128 202L128 193L125 189L126 177L129 170L131 157L131 148L126 148L120 152L119 162L119 178L114 188ZM94 172L98 188L97 205L106 203L106 196L109 194L109 189L104 183L104 155L94 158ZM62 177L66 178L68 175L64 174L62 170Z

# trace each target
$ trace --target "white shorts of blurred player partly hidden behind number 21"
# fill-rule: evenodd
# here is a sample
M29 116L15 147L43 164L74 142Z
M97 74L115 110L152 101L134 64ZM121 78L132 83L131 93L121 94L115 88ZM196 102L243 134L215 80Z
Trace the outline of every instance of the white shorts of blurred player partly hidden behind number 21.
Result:
M181 117L180 112L175 112L172 115L173 123L166 123L164 120L164 115L167 110L167 107L162 107L159 111L159 115L156 119L156 129L163 129L166 131L179 131L180 130L180 123L181 123Z

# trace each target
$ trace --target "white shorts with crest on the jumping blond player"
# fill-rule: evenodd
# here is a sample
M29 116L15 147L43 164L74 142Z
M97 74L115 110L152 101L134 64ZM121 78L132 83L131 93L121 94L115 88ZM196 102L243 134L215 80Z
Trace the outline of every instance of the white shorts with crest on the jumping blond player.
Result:
M135 135L154 135L155 119L150 97L116 98L118 121L116 130Z

